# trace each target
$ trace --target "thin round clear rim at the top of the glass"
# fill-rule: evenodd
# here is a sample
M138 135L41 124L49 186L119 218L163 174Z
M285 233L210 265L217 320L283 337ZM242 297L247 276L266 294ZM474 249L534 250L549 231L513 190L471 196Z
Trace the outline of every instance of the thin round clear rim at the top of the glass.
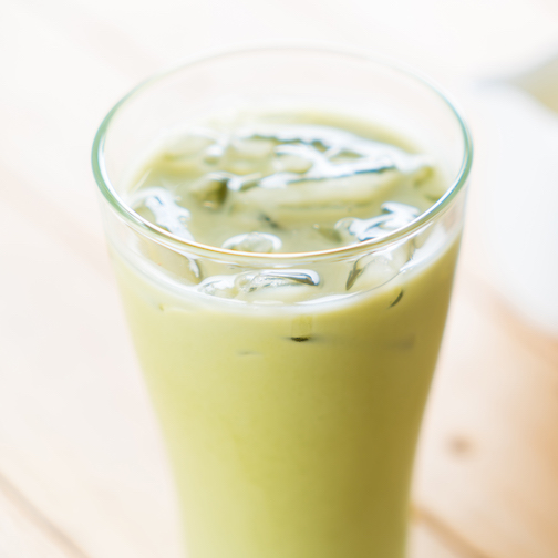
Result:
M127 101L130 101L137 94L142 93L149 86L155 85L165 78L182 72L185 69L194 66L196 64L200 64L216 59L224 59L230 55L254 54L257 52L265 52L265 51L287 52L289 50L304 50L307 52L314 51L322 54L327 53L338 54L352 58L353 60L368 61L386 69L395 70L400 74L406 75L407 78L411 78L415 82L425 85L426 89L428 89L431 92L437 95L437 97L443 102L443 104L445 104L450 108L450 112L455 116L455 120L458 124L458 128L461 130L463 138L462 163L455 178L453 179L453 182L451 183L444 195L436 203L434 203L428 209L426 209L418 217L412 220L410 224L394 231L391 231L388 235L382 236L380 238L372 238L370 240L365 240L362 242L341 246L337 248L329 248L327 250L313 250L302 252L273 252L273 254L230 250L227 248L220 248L217 246L210 246L203 242L197 242L195 240L186 240L184 238L173 235L168 230L148 221L147 219L144 219L124 202L124 199L118 195L118 193L114 188L108 177L108 173L106 170L105 165L104 147L111 123L118 113L118 111L126 104ZM210 53L193 56L178 66L175 66L170 70L166 70L163 72L158 72L152 75L151 78L144 80L134 89L132 89L126 95L124 95L106 114L95 134L91 158L92 158L93 175L99 186L99 189L101 190L101 194L106 199L106 202L108 202L111 208L114 209L116 214L121 218L123 218L128 226L131 226L140 234L147 236L152 239L155 239L156 241L159 241L159 244L162 242L178 251L187 251L190 255L196 255L199 257L213 257L213 258L218 257L219 259L223 260L237 261L237 262L240 261L254 262L255 260L260 260L260 261L269 261L270 264L271 262L277 264L279 261L296 262L301 260L322 260L322 259L337 258L340 256L350 256L359 254L361 251L372 251L389 245L396 244L399 240L402 240L412 235L413 232L417 231L418 229L423 228L428 223L433 221L436 216L444 213L451 206L453 199L455 199L455 197L458 195L458 193L466 184L473 163L473 141L471 137L468 126L466 125L463 116L461 115L461 111L457 108L455 102L451 100L450 95L447 95L442 90L442 87L433 83L428 78L422 75L420 72L411 70L404 66L403 64L394 62L393 60L390 60L385 56L371 55L369 52L363 50L342 48L338 45L332 46L330 43L323 44L317 42L310 42L310 43L281 42L281 43L256 44L236 49L230 48L225 50L221 49Z

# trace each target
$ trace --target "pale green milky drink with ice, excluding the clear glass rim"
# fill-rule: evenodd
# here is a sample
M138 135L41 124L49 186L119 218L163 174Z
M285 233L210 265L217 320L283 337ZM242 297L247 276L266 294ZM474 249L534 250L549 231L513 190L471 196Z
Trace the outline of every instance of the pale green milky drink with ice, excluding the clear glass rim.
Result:
M208 124L141 166L130 204L184 239L299 252L401 228L436 162L372 126ZM190 558L403 558L409 487L458 227L302 268L114 246Z

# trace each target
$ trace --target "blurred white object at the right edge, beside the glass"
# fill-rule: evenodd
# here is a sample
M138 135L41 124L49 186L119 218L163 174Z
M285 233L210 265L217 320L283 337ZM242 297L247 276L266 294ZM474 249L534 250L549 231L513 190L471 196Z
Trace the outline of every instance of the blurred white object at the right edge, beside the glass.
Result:
M475 93L490 149L483 226L495 285L558 335L558 58Z

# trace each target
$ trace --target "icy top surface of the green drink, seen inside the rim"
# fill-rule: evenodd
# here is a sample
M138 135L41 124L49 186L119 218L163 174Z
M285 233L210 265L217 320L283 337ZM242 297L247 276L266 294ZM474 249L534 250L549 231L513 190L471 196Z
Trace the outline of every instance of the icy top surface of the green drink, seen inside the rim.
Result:
M442 196L433 162L413 152L384 131L324 114L216 122L168 141L130 202L187 240L326 250L385 236Z

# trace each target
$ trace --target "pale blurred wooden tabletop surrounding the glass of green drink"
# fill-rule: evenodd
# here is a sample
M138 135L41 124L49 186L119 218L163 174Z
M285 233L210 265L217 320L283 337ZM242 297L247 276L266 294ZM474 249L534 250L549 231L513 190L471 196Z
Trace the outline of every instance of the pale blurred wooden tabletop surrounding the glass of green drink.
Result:
M394 55L459 96L558 49L558 10L551 0L1 0L1 558L179 556L90 146L108 108L154 71L286 38ZM462 102L477 166L421 443L412 557L556 558L558 340L514 316L490 278L477 226L490 146L466 93Z

